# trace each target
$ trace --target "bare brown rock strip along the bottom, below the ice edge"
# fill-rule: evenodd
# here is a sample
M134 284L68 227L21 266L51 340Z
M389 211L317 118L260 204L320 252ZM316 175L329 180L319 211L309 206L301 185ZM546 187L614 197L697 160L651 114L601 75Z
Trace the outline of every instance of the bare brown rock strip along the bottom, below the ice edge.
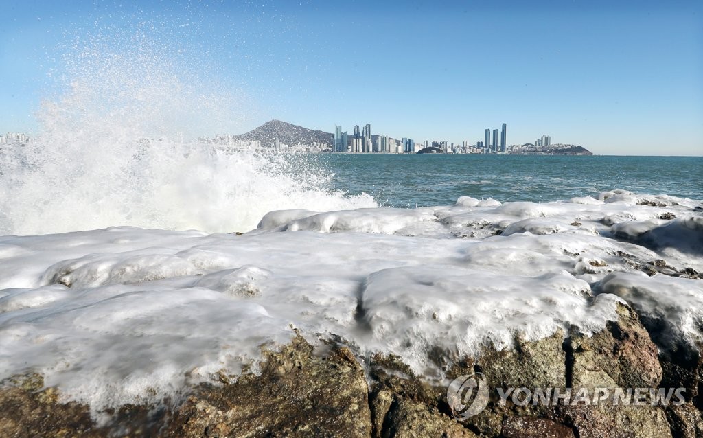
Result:
M360 357L353 345L314 346L297 335L278 352L264 352L261 373L220 373L219 382L192 387L182 401L122 406L98 423L89 406L61 403L41 375L6 379L0 390L0 434L6 437L703 437L701 358L694 349L660 353L652 342L662 321L640 320L618 306L619 320L588 337L558 331L534 342L515 337L512 349L486 345L476 357L433 361L451 380L482 373L489 402L458 418L446 385L413 374L393 354ZM644 323L644 325L643 325ZM649 330L649 331L648 331ZM622 406L515 404L498 388L685 388L685 403Z

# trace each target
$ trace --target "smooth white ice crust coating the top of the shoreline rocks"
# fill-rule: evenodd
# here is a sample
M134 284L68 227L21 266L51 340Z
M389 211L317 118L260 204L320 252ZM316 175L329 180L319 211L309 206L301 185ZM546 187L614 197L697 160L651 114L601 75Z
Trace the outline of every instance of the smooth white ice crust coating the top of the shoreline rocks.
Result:
M586 334L617 302L695 343L701 202L625 191L562 202L266 214L241 236L112 227L0 237L0 379L37 371L94 409L158 401L219 371L257 371L295 330L364 357L475 354L516 335ZM669 219L660 219L668 217ZM673 219L672 219L673 218ZM660 263L661 264L661 263ZM651 273L651 272L650 272ZM665 348L662 344L660 348Z

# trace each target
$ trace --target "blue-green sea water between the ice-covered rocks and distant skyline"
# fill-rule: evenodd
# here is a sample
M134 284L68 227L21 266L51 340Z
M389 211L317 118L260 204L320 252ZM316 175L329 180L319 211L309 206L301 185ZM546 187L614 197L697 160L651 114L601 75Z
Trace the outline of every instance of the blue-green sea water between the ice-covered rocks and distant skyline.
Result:
M446 205L460 196L544 202L613 188L703 197L703 157L328 154L320 161L333 188L389 207Z

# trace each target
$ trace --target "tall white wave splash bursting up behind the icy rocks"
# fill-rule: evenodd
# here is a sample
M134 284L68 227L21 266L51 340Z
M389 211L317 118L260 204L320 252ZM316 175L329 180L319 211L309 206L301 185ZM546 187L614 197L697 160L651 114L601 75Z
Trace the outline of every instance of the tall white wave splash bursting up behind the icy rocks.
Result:
M42 103L36 141L0 154L0 233L248 231L271 210L375 206L370 195L328 189L331 175L312 155L183 142L232 126L246 112L235 108L241 99L145 33L127 42L115 50L91 39L65 57L70 87Z

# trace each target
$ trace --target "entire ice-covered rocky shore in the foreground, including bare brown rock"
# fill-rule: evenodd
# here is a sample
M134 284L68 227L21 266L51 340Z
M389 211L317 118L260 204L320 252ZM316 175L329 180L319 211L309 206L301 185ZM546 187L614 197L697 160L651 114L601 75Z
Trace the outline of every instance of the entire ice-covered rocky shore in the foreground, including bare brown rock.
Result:
M703 438L703 207L598 198L8 236L0 437Z

